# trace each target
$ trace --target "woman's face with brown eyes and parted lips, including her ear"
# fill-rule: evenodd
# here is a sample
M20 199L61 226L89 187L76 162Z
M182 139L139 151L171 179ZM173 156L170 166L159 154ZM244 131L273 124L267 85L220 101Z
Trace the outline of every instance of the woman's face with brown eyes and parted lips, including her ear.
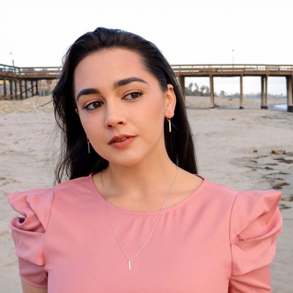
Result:
M95 151L121 166L166 152L164 118L173 117L176 103L173 86L167 87L161 89L133 51L114 48L86 56L74 72L74 97ZM120 135L132 138L109 143Z

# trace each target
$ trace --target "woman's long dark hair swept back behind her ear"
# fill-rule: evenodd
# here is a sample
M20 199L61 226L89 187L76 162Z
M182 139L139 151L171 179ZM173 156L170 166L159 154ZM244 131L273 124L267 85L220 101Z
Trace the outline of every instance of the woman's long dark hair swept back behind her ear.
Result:
M146 69L159 81L166 91L172 84L176 95L176 107L171 118L172 132L168 132L168 122L164 122L164 138L167 154L178 167L197 174L196 156L191 128L188 123L184 96L176 76L160 50L144 38L120 29L98 27L79 37L63 57L63 69L57 85L52 91L55 119L61 129L61 152L55 169L55 182L74 179L97 173L109 162L93 149L87 151L87 138L73 95L73 76L78 63L85 56L109 48L123 48L138 53ZM92 148L92 147L91 147ZM67 178L66 178L67 177Z

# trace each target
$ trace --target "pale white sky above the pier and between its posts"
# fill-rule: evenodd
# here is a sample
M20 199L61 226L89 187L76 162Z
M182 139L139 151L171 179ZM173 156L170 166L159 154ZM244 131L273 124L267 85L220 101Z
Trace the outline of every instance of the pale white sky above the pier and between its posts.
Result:
M292 0L1 0L0 10L1 64L60 66L70 44L99 26L141 35L170 64L293 64ZM215 87L239 92L239 81ZM285 78L270 78L268 90L286 94ZM244 79L244 93L259 91L260 78Z

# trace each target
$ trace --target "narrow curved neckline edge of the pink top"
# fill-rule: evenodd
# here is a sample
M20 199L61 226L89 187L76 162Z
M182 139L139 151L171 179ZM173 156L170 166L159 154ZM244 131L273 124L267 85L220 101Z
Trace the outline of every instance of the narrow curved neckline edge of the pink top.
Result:
M93 174L94 173L90 173L88 175L88 180L89 180L89 184L91 186L91 188L93 189L93 192L95 194L97 194L97 197L99 200L102 201L102 203L106 206L107 205L107 201L105 200L105 198L101 195L101 193L99 192L99 190L96 188L94 181L93 181ZM203 179L203 182L200 184L200 186L198 186L195 190L193 190L187 197L185 197L182 201L178 202L177 204L170 206L166 209L162 210L162 214L173 210L173 209L177 209L181 206L183 206L184 204L186 204L189 200L191 200L193 197L195 197L196 195L202 193L203 189L205 188L205 186L208 183L208 180L206 178L204 178L203 176L199 175L199 174L193 174L194 176L200 177L201 179ZM159 214L161 210L151 210L151 211L134 211L134 210L127 210L127 209L121 209L118 208L116 206L114 206L113 204L108 202L108 206L109 209L113 209L115 211L118 211L120 213L125 213L125 214L130 214L130 215L136 215L136 216L146 216L146 215L156 215Z

